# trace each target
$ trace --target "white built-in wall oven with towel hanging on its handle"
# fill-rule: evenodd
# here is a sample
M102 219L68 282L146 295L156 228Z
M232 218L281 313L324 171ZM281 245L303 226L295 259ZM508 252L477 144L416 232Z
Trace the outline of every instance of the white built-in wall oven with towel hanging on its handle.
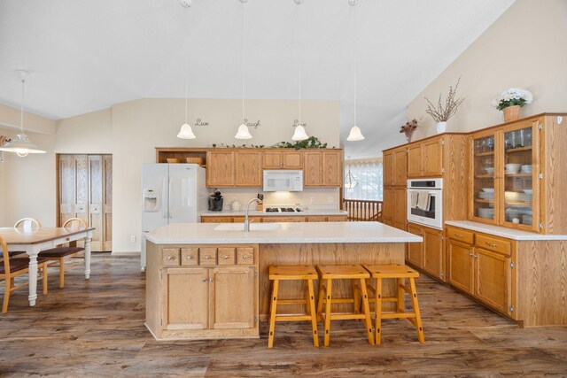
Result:
M443 179L408 180L408 222L443 229Z

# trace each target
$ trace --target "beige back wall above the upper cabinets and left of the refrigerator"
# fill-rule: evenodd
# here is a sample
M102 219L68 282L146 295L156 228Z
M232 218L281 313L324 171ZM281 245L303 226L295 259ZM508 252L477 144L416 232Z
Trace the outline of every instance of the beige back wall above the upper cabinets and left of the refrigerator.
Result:
M208 127L193 127L197 139L186 141L175 135L184 122L183 99L142 99L113 106L113 251L139 251L139 238L130 242L130 235L141 234L141 166L155 162L155 147L207 147L213 143L242 144L234 135L242 118L241 100L190 100L189 120L209 122ZM297 118L297 100L246 100L249 121L260 120L260 127L251 129L255 145L291 142ZM302 101L302 121L307 133L317 136L332 147L339 145L338 101ZM255 197L258 189L240 192ZM338 203L338 190L334 190ZM231 198L230 198L231 199ZM317 197L326 203L326 196Z

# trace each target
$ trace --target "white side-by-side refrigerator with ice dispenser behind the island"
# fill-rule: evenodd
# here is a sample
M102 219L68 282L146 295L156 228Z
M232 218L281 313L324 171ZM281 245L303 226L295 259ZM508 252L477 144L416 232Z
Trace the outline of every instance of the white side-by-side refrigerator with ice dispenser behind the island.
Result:
M145 233L170 223L198 222L208 206L205 168L197 164L142 166L142 258Z

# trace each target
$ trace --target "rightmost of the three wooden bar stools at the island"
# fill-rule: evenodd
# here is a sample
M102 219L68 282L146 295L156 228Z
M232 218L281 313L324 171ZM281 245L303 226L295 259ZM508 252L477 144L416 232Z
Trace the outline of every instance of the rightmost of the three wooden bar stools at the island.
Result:
M373 298L376 302L376 343L380 344L382 339L382 320L383 319L407 319L416 327L417 339L420 343L425 342L423 336L422 318L419 313L419 305L417 304L416 281L419 277L414 269L403 265L365 265L364 268L369 271L372 278L376 279L376 290L368 285L369 291L374 294ZM382 280L387 278L396 279L396 287L398 289L398 297L382 297ZM409 287L406 285L406 279L409 281ZM406 312L404 303L404 292L411 297L413 312ZM382 312L382 304L384 302L396 303L396 312Z

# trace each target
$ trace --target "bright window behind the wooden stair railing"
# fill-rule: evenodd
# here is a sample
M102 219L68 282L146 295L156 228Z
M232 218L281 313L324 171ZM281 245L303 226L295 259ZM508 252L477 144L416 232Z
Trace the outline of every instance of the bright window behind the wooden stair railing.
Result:
M348 170L357 185L348 189ZM382 201L382 159L347 160L345 162L345 198Z

